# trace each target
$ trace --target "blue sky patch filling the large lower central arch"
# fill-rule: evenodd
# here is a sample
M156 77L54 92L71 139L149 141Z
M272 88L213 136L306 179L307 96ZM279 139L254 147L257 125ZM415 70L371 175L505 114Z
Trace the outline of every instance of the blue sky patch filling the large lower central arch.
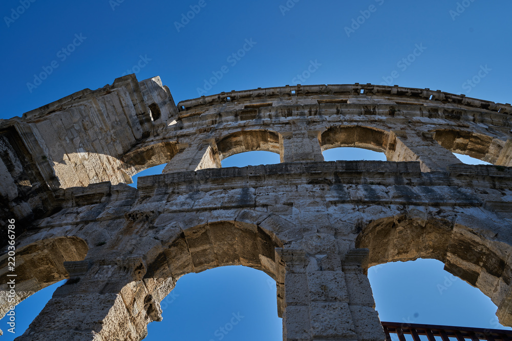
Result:
M275 281L249 267L187 274L160 303L164 323L148 325L145 340L282 340L275 298Z

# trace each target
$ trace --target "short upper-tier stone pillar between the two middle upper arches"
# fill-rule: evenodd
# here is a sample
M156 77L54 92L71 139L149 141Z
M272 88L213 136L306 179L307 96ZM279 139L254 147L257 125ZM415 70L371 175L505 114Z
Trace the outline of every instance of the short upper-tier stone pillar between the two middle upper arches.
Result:
M318 142L319 130L307 130L307 120L291 123L292 131L280 133L282 162L324 161Z

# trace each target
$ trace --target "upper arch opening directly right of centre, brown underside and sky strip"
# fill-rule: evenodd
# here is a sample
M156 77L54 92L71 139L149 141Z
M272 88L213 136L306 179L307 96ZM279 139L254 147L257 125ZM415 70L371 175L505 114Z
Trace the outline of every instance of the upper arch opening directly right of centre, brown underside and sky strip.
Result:
M320 145L324 158L326 161L331 161L334 157L335 160L388 160L388 150L393 151L395 148L394 139L391 139L390 133L377 129L364 126L334 126L327 129L322 133ZM344 149L338 149L338 148ZM351 149L345 149L350 147ZM329 149L336 148L337 150L327 152ZM367 149L379 154L367 153L361 154L360 150L354 149ZM378 155L378 156L377 156ZM334 161L334 160L332 160Z

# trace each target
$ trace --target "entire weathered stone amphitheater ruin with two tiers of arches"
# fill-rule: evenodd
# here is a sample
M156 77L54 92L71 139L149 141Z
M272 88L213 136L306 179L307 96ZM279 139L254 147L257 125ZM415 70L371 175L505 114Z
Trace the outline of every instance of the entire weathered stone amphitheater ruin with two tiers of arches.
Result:
M0 316L14 304L15 219L15 303L68 279L19 341L141 340L181 276L224 265L275 279L285 340L383 340L367 269L420 257L478 287L512 326L511 115L372 84L176 106L159 77L129 75L2 120ZM324 162L347 146L388 161ZM221 168L253 150L281 163Z

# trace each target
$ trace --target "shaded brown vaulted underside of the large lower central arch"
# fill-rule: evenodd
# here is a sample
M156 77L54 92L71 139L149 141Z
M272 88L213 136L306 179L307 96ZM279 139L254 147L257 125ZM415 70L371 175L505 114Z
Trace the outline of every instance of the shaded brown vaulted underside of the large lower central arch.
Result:
M145 278L179 278L219 266L244 265L275 279L276 247L283 247L283 242L258 224L207 222L180 229L175 238L162 242Z

